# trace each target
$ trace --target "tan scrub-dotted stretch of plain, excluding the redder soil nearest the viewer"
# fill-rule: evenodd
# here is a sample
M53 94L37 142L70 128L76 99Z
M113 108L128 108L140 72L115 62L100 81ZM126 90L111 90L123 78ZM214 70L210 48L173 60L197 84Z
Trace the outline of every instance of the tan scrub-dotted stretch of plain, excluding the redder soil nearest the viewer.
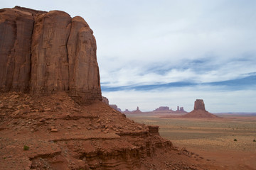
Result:
M256 142L253 142L256 139L255 117L226 116L199 120L130 115L129 118L146 125L159 125L160 135L177 146L203 150L256 151Z

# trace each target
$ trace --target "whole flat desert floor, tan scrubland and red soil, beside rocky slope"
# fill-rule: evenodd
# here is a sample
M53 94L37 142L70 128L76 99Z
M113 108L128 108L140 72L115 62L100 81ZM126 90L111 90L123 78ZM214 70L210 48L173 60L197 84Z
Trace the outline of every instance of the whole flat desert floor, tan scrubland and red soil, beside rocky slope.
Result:
M161 116L127 115L138 123L159 125L160 135L176 147L186 147L225 169L256 169L256 116L222 114L214 119Z

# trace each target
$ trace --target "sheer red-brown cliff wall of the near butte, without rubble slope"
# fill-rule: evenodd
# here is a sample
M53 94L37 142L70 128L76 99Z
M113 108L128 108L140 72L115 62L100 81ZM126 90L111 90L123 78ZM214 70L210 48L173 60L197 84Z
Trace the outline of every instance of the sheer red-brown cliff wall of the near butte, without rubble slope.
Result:
M78 103L102 98L96 40L83 18L4 8L0 38L0 91L68 91Z

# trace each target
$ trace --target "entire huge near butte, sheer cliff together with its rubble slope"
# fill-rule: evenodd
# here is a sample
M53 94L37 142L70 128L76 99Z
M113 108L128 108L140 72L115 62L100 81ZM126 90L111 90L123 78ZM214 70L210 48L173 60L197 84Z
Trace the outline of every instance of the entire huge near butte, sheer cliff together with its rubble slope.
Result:
M0 38L0 169L220 169L95 100L96 42L82 18L4 8Z

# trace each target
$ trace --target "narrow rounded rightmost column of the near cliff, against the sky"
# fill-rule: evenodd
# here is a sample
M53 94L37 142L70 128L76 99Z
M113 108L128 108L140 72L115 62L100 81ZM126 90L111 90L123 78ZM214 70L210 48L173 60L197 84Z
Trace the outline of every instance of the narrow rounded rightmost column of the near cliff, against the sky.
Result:
M101 98L96 40L92 30L80 16L71 21L67 48L70 93L87 100Z

